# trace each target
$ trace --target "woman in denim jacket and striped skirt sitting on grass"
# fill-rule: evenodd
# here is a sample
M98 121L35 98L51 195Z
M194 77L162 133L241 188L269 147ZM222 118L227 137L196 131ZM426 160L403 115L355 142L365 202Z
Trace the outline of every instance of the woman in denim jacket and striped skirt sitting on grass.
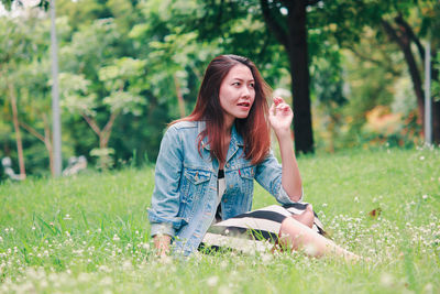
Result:
M208 65L193 113L168 128L156 162L148 209L161 255L188 255L200 246L238 248L240 237L280 242L311 255L358 257L322 237L310 205L300 204L301 177L290 135L293 111L274 98L255 65L220 55ZM282 165L270 151L270 128ZM251 211L253 179L283 206ZM315 222L315 224L314 224Z

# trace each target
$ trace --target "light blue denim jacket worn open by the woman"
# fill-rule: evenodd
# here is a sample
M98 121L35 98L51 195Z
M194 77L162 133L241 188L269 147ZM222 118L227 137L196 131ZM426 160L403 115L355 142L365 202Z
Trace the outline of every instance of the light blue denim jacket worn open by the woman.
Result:
M219 205L219 162L211 159L207 139L199 152L198 135L202 130L205 122L182 121L165 132L156 161L152 207L148 208L151 235L172 236L174 251L184 255L198 248ZM273 153L253 165L244 157L243 139L233 127L224 164L223 219L251 210L254 179L278 203L293 203L282 186L282 166Z

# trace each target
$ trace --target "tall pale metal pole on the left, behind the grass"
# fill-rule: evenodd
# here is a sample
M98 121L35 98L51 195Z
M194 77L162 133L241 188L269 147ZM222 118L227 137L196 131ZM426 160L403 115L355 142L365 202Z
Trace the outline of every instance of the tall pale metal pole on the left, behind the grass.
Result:
M51 0L51 53L52 53L52 119L55 176L62 174L62 126L59 118L58 53L55 26L55 0Z

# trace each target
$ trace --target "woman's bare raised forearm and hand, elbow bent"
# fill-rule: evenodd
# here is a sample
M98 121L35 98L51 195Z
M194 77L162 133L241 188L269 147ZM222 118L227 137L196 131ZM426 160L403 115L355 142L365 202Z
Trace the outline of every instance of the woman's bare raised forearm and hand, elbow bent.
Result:
M268 119L278 140L282 154L282 185L290 200L298 202L302 196L302 184L290 135L293 118L294 112L283 98L274 98Z

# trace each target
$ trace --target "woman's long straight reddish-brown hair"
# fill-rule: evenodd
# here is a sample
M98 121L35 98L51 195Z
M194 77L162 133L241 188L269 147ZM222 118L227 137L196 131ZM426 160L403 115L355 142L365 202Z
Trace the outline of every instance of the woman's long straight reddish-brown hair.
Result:
M270 97L272 90L264 81L255 64L249 58L238 55L220 55L213 58L205 72L196 107L188 117L177 121L205 121L206 129L199 134L199 151L201 141L208 138L211 157L224 162L226 157L222 152L224 117L219 92L224 77L238 64L243 64L251 69L255 83L255 100L246 118L235 119L235 128L244 141L245 159L257 164L264 160L271 146L267 97Z

